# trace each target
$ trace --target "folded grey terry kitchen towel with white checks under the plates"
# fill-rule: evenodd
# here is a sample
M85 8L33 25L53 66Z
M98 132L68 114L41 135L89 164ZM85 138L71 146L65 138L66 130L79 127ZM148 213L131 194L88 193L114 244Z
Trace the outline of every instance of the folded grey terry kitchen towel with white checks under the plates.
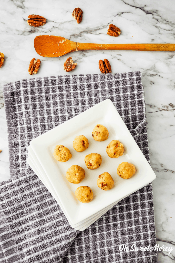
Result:
M119 250L120 244L129 248L156 244L152 184L79 232L26 163L33 138L107 98L149 161L139 71L23 79L4 85L11 179L0 185L1 262L156 262L154 250Z

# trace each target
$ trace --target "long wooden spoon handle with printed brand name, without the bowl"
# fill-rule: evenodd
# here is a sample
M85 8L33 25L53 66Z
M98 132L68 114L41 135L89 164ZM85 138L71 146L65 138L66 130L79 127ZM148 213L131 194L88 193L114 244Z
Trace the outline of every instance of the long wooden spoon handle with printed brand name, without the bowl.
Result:
M76 50L116 49L145 51L175 51L175 44L93 44L76 43Z

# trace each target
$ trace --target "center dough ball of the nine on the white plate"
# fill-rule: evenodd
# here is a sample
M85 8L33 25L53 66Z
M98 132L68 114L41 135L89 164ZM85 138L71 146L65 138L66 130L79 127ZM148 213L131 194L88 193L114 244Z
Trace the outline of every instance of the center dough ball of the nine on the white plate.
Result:
M102 163L102 156L98 153L90 153L84 158L85 164L88 169L97 169Z

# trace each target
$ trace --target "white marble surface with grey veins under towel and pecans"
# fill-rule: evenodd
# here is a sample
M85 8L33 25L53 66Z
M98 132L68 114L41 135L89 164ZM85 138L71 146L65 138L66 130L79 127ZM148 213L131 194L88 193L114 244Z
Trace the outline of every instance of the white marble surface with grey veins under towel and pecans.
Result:
M72 17L75 7L83 10L81 24ZM32 58L41 59L39 72L33 78L65 74L63 63L68 55L40 57L33 45L35 36L52 34L87 43L175 43L173 0L2 0L0 13L0 52L5 55L0 69L1 181L9 178L2 85L30 78L28 66ZM26 22L30 14L44 16L47 23L39 28L30 27ZM119 37L107 35L110 23L121 29ZM104 58L110 61L113 73L134 70L143 73L150 159L157 175L153 181L157 244L174 248L170 255L158 252L157 262L174 262L175 52L94 50L74 52L71 56L77 62L72 74L100 73L98 61Z

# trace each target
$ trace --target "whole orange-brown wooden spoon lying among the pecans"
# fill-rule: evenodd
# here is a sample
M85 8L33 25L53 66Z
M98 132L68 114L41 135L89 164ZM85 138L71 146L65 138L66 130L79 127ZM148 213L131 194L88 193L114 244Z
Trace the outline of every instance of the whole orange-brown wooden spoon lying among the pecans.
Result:
M43 57L60 57L72 51L94 49L175 51L175 44L93 44L77 43L64 37L37 36L34 39L36 52Z

